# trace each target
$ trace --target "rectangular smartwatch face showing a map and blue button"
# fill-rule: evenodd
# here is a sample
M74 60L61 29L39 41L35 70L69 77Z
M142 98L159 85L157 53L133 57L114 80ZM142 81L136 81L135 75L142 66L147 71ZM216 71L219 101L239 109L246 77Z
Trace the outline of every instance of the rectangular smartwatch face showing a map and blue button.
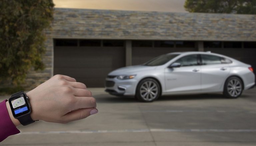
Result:
M30 113L26 94L21 93L9 99L9 104L14 118Z

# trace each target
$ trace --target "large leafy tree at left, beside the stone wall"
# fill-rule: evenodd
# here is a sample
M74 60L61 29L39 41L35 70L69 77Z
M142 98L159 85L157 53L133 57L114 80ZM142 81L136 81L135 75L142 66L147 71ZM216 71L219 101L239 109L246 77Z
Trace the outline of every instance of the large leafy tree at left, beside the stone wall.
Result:
M0 1L0 81L24 82L33 68L43 70L44 29L53 20L52 0Z

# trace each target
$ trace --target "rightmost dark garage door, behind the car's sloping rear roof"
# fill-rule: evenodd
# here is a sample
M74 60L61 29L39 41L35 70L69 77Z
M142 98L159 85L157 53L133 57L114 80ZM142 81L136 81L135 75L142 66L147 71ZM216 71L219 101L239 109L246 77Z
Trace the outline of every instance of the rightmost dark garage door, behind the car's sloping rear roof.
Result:
M223 42L221 48L210 48L214 47L210 43L214 42L204 43L205 51L222 54L249 64L253 67L254 74L256 74L256 42ZM242 43L244 47L242 47ZM216 44L217 42L215 42Z

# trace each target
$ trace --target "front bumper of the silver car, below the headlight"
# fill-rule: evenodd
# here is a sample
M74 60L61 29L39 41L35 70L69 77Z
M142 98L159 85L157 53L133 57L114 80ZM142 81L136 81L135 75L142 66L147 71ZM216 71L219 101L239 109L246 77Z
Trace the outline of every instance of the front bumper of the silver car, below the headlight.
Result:
M106 78L105 91L112 95L135 95L137 83L136 79Z

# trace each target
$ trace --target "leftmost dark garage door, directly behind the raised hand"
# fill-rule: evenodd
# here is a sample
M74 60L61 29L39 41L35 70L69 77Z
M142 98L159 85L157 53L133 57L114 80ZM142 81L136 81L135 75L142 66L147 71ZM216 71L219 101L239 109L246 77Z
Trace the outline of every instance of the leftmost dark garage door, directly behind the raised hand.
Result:
M87 87L104 87L107 74L125 66L124 47L55 46L54 74L65 74Z

